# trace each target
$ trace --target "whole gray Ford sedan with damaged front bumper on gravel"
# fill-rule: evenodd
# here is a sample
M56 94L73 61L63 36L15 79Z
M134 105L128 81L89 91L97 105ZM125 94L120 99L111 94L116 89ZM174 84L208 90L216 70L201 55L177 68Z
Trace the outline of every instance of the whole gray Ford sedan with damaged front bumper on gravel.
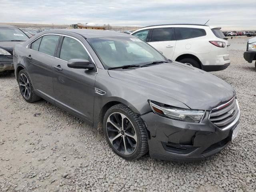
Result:
M42 32L14 48L15 74L27 102L44 98L94 128L131 160L216 154L239 131L234 89L216 76L165 58L132 35L65 29Z

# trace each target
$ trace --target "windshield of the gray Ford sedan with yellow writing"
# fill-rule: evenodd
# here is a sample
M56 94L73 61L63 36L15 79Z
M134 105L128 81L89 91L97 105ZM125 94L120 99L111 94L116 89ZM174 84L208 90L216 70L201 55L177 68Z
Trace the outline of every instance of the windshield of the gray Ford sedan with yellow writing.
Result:
M162 54L138 38L108 37L87 39L105 68L167 61Z

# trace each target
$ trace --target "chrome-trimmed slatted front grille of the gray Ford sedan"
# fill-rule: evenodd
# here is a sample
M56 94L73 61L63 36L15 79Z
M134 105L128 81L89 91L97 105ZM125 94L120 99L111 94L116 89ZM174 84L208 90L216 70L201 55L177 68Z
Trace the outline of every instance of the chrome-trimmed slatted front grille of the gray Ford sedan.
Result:
M210 114L210 121L220 129L224 129L234 122L238 114L238 103L236 98L232 98L229 102L212 110Z

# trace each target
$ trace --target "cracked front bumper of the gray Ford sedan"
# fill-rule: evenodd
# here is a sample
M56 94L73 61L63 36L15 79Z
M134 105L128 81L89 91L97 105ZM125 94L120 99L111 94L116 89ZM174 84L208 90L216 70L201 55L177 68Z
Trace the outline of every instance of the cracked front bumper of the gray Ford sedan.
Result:
M206 112L206 117L210 112ZM171 161L195 161L212 156L231 141L232 131L239 124L221 130L208 118L200 124L164 118L150 112L141 118L150 132L149 153L152 158Z

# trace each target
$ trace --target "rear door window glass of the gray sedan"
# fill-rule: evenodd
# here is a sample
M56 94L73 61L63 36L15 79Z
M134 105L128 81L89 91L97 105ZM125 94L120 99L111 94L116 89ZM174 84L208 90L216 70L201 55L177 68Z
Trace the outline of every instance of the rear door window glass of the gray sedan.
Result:
M58 44L58 35L45 35L42 37L39 52L54 56L56 45Z

